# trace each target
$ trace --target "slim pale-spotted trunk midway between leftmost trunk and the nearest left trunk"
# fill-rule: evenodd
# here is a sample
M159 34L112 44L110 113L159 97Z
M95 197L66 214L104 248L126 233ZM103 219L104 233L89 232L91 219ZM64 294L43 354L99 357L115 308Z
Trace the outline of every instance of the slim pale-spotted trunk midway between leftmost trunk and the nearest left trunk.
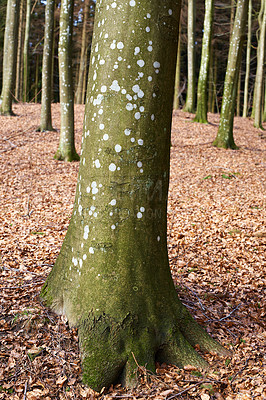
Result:
M45 6L45 32L42 61L42 108L40 131L52 131L52 57L54 44L54 0L47 0Z

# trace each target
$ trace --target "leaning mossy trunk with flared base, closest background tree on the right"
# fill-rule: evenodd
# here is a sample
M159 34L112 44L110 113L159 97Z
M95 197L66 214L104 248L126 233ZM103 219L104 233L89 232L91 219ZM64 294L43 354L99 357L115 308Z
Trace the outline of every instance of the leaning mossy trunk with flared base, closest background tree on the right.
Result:
M237 93L237 77L240 69L241 53L247 20L247 6L248 0L238 0L225 75L220 124L216 139L213 143L214 146L223 147L225 149L237 149L233 137L233 124Z

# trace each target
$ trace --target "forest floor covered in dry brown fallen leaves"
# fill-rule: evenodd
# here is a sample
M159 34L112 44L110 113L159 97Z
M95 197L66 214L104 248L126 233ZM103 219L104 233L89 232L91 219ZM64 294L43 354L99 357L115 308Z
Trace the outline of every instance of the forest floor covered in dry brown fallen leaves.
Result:
M40 105L0 117L0 399L266 399L266 136L235 118L238 151L212 147L219 116L173 118L169 258L178 293L232 357L204 355L208 373L187 366L140 369L139 386L93 392L81 382L77 332L47 310L40 289L59 253L78 163L53 159L57 132L36 132ZM76 107L80 151L84 107ZM265 125L266 128L266 125Z

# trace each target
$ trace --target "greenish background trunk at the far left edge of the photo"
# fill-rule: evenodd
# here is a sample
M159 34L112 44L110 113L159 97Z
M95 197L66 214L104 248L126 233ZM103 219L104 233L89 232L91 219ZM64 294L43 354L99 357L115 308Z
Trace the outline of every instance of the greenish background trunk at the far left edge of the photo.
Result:
M0 113L2 115L14 115L12 111L12 95L16 81L19 6L20 0L8 0L4 40L3 85L0 100Z

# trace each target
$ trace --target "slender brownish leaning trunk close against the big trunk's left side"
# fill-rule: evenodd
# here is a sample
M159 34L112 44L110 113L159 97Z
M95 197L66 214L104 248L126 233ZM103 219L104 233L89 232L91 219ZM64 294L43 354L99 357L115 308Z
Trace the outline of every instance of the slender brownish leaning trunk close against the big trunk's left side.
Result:
M83 104L84 98L82 98L83 93L83 80L86 79L86 50L88 46L88 35L87 35L87 24L89 16L89 0L85 0L85 8L83 12L83 27L82 27L82 41L81 41L81 51L80 51L80 63L79 63L79 74L78 74L78 84L76 89L76 103Z

